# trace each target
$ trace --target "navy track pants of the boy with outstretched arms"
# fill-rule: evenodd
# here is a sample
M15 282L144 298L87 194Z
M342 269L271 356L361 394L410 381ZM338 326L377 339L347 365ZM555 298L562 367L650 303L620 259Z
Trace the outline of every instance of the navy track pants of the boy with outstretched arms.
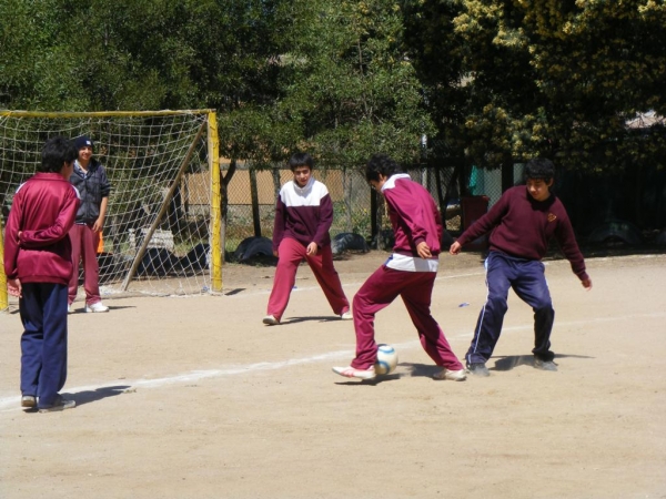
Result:
M467 364L485 363L493 355L502 333L508 288L534 310L534 349L532 353L544 360L553 360L551 332L555 310L544 274L544 264L534 259L516 258L491 252L485 261L488 294L481 309L474 338L467 350Z

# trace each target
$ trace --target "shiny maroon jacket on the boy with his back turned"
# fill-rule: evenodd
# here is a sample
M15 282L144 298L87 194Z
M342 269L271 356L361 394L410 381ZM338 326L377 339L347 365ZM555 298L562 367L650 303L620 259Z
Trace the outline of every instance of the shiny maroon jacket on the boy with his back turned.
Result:
M68 284L72 274L68 233L78 208L77 190L59 173L37 173L21 184L4 230L7 277Z

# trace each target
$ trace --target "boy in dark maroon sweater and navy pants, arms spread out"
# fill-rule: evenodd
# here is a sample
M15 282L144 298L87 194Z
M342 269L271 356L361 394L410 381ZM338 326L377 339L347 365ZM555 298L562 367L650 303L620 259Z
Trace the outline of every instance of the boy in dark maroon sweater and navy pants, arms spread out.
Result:
M492 231L485 261L488 294L465 356L467 369L474 375L490 376L485 363L502 333L509 287L534 309L534 367L557 370L555 354L551 352L555 310L541 262L551 238L559 244L583 287L592 288L566 210L551 193L554 175L555 166L549 160L529 161L525 165L527 185L507 190L488 213L451 245L450 253L457 255L465 244Z

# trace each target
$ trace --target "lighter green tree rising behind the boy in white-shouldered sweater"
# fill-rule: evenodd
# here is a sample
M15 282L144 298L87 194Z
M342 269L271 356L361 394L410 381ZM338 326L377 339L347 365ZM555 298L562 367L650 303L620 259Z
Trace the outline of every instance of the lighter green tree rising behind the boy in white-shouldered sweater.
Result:
M281 54L281 121L324 164L355 167L376 152L420 161L434 129L391 0L297 0L282 4L289 51Z

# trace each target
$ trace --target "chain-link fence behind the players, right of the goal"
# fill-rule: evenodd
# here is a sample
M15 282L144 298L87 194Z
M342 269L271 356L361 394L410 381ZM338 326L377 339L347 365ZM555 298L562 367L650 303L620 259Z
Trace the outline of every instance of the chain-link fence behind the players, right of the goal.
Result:
M515 164L508 180L504 176L504 186L523 183L523 171L524 164ZM407 173L435 198L445 228L454 237L491 208L503 193L500 169L437 165L410 169ZM377 196L373 204L374 194L362 171L315 169L313 175L326 184L333 200L333 237L351 232L365 238L371 247L384 248L391 244L383 197ZM253 172L243 165L235 171L228 187L228 253L233 253L246 237L272 237L278 193L292 179L289 169ZM637 167L597 176L559 172L555 180L554 192L566 206L581 243L608 238L633 244L666 241L666 171Z

